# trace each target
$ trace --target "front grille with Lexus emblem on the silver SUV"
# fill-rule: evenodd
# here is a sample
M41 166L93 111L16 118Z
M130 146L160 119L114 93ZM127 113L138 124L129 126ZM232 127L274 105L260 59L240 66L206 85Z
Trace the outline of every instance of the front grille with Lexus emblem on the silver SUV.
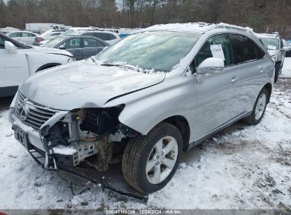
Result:
M39 130L42 124L55 115L57 110L52 110L42 105L33 103L18 92L15 112L22 122L30 127L33 127L34 129Z

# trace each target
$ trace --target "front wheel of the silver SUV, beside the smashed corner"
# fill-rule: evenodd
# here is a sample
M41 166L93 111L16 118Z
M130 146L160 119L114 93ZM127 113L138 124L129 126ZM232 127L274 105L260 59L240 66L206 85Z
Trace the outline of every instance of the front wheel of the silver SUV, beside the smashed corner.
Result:
M161 148L163 150L159 151L165 151L166 146L175 147L169 153L161 155L156 150L160 146L159 143L163 145ZM127 143L122 157L123 176L128 184L139 192L152 193L161 190L176 173L182 151L183 139L179 130L172 124L161 122L146 136L138 136ZM170 153L171 157L169 157ZM156 155L160 155L159 160L156 159ZM166 161L171 161L169 166L172 168L166 167L164 164L164 162L168 163ZM150 168L151 164L152 168ZM159 173L159 170L161 170L160 178L155 176L158 175L155 173Z

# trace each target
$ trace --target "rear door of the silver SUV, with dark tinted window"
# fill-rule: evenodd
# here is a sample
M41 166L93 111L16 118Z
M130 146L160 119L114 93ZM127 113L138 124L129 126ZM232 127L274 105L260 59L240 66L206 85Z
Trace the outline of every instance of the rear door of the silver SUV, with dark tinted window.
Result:
M239 92L240 107L237 108L250 112L266 81L270 64L265 61L266 53L249 37L229 36L234 47L234 71L240 78L234 83L234 90Z

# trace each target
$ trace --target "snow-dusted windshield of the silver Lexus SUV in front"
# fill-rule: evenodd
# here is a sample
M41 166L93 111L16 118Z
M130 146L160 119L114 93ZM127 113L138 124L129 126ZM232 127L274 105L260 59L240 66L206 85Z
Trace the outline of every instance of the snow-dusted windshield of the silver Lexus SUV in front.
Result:
M171 71L173 66L190 52L201 35L186 32L146 32L129 35L96 55L96 59L155 71Z

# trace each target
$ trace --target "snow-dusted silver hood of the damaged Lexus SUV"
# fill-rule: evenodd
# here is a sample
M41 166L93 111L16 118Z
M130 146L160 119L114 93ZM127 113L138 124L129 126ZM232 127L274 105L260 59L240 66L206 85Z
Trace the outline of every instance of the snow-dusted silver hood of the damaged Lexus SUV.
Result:
M90 59L35 74L19 87L26 98L58 110L101 108L108 100L164 81L166 74L144 74Z

